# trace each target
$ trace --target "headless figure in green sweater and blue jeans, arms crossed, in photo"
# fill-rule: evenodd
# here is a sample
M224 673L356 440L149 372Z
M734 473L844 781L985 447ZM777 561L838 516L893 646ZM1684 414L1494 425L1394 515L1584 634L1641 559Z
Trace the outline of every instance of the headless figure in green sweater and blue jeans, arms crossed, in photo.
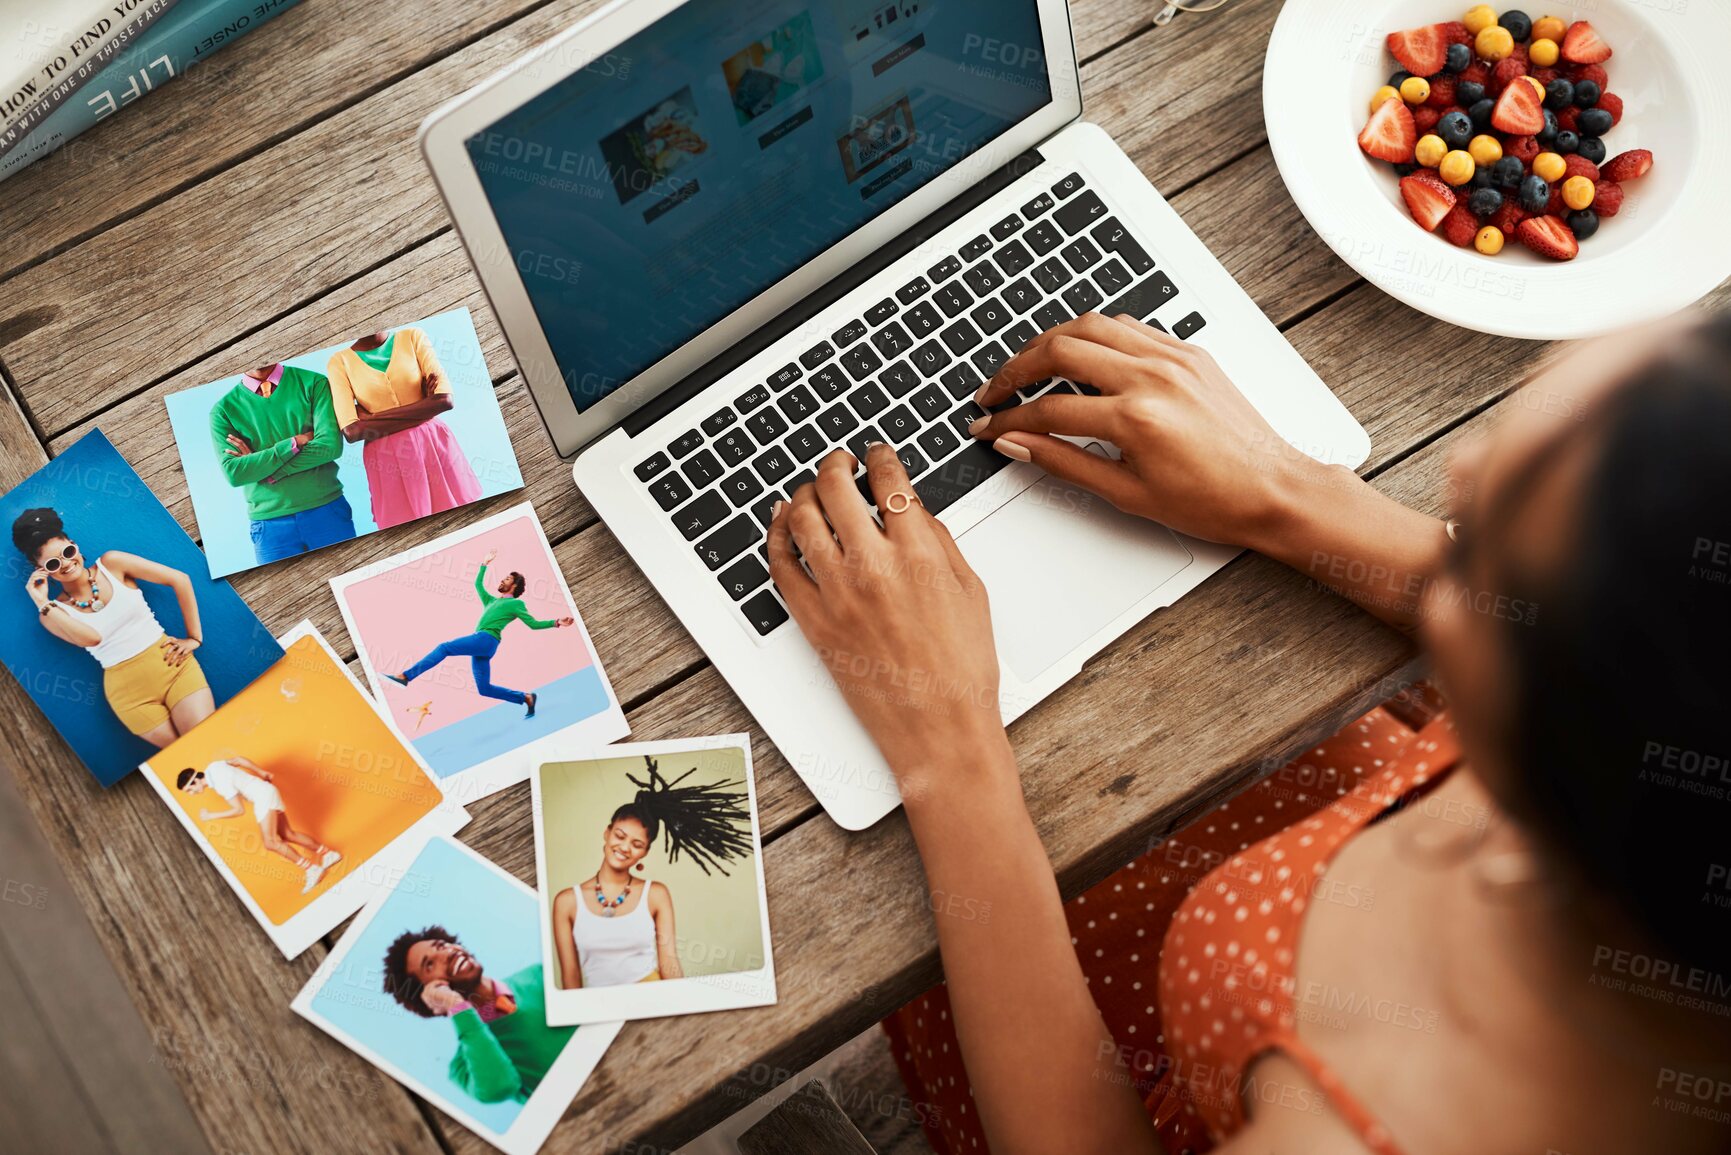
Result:
M344 442L324 374L248 369L211 407L211 445L228 485L246 492L258 565L355 537L336 464Z

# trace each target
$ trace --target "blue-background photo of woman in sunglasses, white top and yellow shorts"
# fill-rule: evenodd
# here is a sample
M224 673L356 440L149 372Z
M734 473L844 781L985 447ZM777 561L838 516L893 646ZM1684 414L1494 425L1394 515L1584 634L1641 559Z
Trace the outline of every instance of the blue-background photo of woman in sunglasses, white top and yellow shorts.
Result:
M282 658L100 431L0 497L0 660L104 786Z

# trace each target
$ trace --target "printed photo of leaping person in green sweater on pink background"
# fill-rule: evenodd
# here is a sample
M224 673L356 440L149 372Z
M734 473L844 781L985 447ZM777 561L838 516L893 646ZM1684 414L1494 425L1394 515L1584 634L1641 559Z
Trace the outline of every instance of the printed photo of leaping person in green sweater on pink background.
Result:
M528 502L331 590L391 724L464 802L630 732Z

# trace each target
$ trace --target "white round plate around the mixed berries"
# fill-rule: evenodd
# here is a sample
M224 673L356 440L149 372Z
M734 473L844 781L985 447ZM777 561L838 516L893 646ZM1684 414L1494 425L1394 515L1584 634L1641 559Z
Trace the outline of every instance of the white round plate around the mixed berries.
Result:
M1515 338L1608 332L1674 313L1731 275L1731 0L1535 3L1591 19L1615 55L1624 119L1608 156L1651 149L1624 210L1549 261L1509 239L1499 256L1426 234L1393 168L1359 151L1371 94L1399 64L1390 31L1461 19L1471 0L1286 0L1262 81L1281 178L1310 227L1385 293L1442 320ZM1506 7L1497 10L1506 10ZM1513 5L1508 5L1513 7Z

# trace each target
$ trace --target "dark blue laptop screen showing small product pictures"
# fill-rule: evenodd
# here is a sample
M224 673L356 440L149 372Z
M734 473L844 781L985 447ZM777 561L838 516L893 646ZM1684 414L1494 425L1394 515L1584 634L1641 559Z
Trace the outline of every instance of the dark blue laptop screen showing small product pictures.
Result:
M1035 0L689 0L471 137L578 412L1049 104L1040 43Z

